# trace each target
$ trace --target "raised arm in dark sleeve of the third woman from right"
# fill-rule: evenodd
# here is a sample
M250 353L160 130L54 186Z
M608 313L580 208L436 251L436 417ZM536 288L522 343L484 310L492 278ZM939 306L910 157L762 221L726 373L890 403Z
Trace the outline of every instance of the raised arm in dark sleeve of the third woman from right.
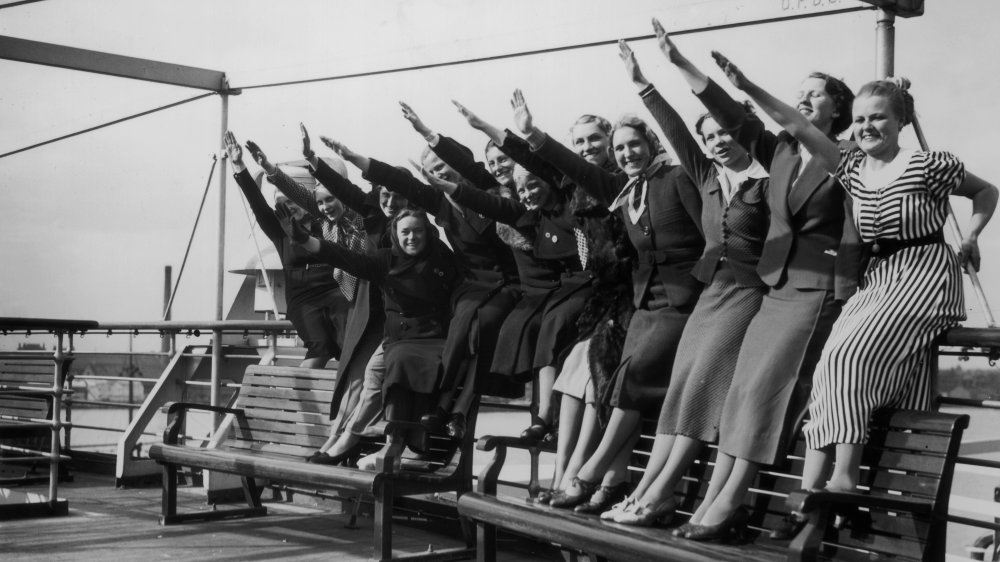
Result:
M654 24L659 23L653 20ZM639 89L639 96L646 108L653 115L653 119L663 130L667 137L667 142L677 153L677 159L684 171L695 180L697 185L703 185L709 180L717 177L713 161L705 156L701 145L691 135L687 125L674 108L663 99L660 92L646 80L639 68L639 62L635 59L635 53L629 48L624 40L618 41L618 48L625 63L625 71L632 83Z

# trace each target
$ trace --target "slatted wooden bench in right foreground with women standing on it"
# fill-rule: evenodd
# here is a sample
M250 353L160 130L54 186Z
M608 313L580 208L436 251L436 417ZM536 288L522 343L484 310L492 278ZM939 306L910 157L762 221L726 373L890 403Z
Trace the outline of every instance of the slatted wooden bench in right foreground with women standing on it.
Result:
M523 499L497 497L497 478L515 438L484 437L481 450L494 456L479 475L475 492L459 499L459 512L476 522L478 560L496 560L497 530L555 544L571 557L601 560L943 560L948 498L955 458L967 415L888 410L873 420L857 493L803 492L800 439L782 466L761 471L748 494L750 533L739 544L699 543L673 537L670 529L630 527L593 515L538 506ZM641 476L652 436L648 424L633 454L633 479ZM714 449L696 461L678 486L678 512L690 514L704 496L714 464ZM858 509L860 508L860 509ZM791 542L767 538L765 531L789 510L809 522ZM836 530L833 514L854 522ZM675 521L674 525L681 521Z

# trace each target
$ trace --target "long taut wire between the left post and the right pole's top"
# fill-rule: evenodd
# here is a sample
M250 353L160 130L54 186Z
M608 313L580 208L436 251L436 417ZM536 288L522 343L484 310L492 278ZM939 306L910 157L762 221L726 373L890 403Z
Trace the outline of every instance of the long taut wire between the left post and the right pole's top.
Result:
M839 9L839 10L830 10L830 11L819 12L819 13L812 13L812 14L795 14L795 15L791 15L791 16L780 16L780 17L774 17L774 18L754 20L752 22L726 23L726 24L719 24L719 25L709 25L709 26L705 26L705 27L696 27L696 28L684 29L684 30L680 30L680 31L671 31L670 35L671 36L678 36L678 35L687 35L687 34L690 34L690 33L703 33L703 32L706 32L706 31L718 31L718 30L722 30L722 29L732 29L732 28L736 28L736 27L745 27L745 26L749 26L749 25L760 25L760 24L765 24L765 23L779 23L779 22L789 21L789 20L814 18L814 17L819 17L819 16L832 16L832 15L837 15L837 14L846 14L846 13L850 13L850 12L858 12L858 11L862 11L862 10L873 10L873 9L875 9L875 8L872 8L872 7L869 7L869 6L854 6L854 7L850 7L850 8L842 8L842 9ZM634 41L642 41L642 40L646 40L646 39L655 39L655 38L656 38L656 35L646 34L646 35L636 35L636 36L633 36L633 37L624 37L623 39L625 39L626 41L628 41L628 42L631 43L631 42L634 42ZM295 85L299 85L299 84L312 84L312 83L315 83L315 82L330 82L330 81L334 81L334 80L348 80L348 79L351 79L351 78L365 78L365 77L369 77L369 76L379 76L379 75L383 75L383 74L396 74L396 73L399 73L399 72L412 72L414 70L426 70L426 69L429 69L429 68L443 68L443 67L448 67L448 66L460 66L460 65L464 65L464 64L476 64L476 63L481 63L481 62L490 62L490 61L497 61L497 60L521 58L521 57L530 57L530 56L535 56L535 55L546 55L546 54L550 54L550 53L559 53L559 52L563 52L563 51L573 51L573 50L576 50L576 49L588 49L590 47L602 47L602 46L617 45L617 44L618 44L618 39L608 39L608 40L604 40L604 41L593 41L593 42L590 42L590 43L578 43L578 44L574 44L574 45L563 45L561 47L549 47L549 48L545 48L545 49L534 49L534 50L530 50L530 51L518 51L518 52L515 52L515 53L507 53L507 54L503 54L503 55L490 55L490 56L485 56L485 57L475 57L475 58L469 58L469 59L459 59L459 60L453 60L453 61L419 64L419 65L414 65L414 66L400 66L400 67L396 67L396 68L387 68L387 69L383 69L383 70L371 70L371 71L367 71L367 72L355 72L355 73L352 73L352 74L338 74L338 75L335 75L335 76L326 76L326 77L322 77L322 78L306 78L306 79L303 79L303 80L290 80L290 81L286 81L286 82L272 82L272 83L268 83L268 84L255 84L255 85L252 85L252 86L239 86L239 87L234 88L234 89L238 89L238 90L257 90L257 89L261 89L261 88L276 88L276 87L279 87L279 86L295 86Z

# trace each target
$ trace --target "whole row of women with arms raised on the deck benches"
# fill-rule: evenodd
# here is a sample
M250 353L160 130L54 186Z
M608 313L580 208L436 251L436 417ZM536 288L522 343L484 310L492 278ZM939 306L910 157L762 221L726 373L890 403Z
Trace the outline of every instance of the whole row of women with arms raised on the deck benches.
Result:
M750 483L804 420L802 487L853 489L874 410L930 407L932 342L964 319L961 268L978 269L997 189L951 154L900 147L913 121L905 81L855 94L817 72L792 106L714 53L784 129L774 133L653 28L706 109L693 123L699 143L619 44L676 163L634 116L612 125L584 115L563 146L518 90L519 134L456 102L489 137L487 167L406 104L428 143L422 178L321 137L372 182L368 193L316 158L304 128L321 185L312 194L248 143L298 206L272 211L227 136L237 180L286 248L286 272L319 264L323 287L350 295L338 421L311 462L350 458L380 413L460 437L473 396L516 395L534 380L537 409L521 436L557 444L537 501L662 523L699 450L718 442L703 502L673 531L714 540L742 530ZM845 131L851 140L838 140ZM942 236L950 195L972 200L958 255ZM657 413L648 466L630 489L639 420ZM420 439L410 446L419 452ZM789 514L772 536L799 525Z

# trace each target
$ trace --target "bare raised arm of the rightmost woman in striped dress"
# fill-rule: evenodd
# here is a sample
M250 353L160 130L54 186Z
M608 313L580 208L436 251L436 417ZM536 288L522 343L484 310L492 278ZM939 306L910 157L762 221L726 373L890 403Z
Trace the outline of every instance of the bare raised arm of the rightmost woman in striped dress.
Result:
M722 54L712 51L715 62L734 86L745 92L771 119L798 140L827 171L833 172L840 162L840 148L795 108L772 96L751 82Z

